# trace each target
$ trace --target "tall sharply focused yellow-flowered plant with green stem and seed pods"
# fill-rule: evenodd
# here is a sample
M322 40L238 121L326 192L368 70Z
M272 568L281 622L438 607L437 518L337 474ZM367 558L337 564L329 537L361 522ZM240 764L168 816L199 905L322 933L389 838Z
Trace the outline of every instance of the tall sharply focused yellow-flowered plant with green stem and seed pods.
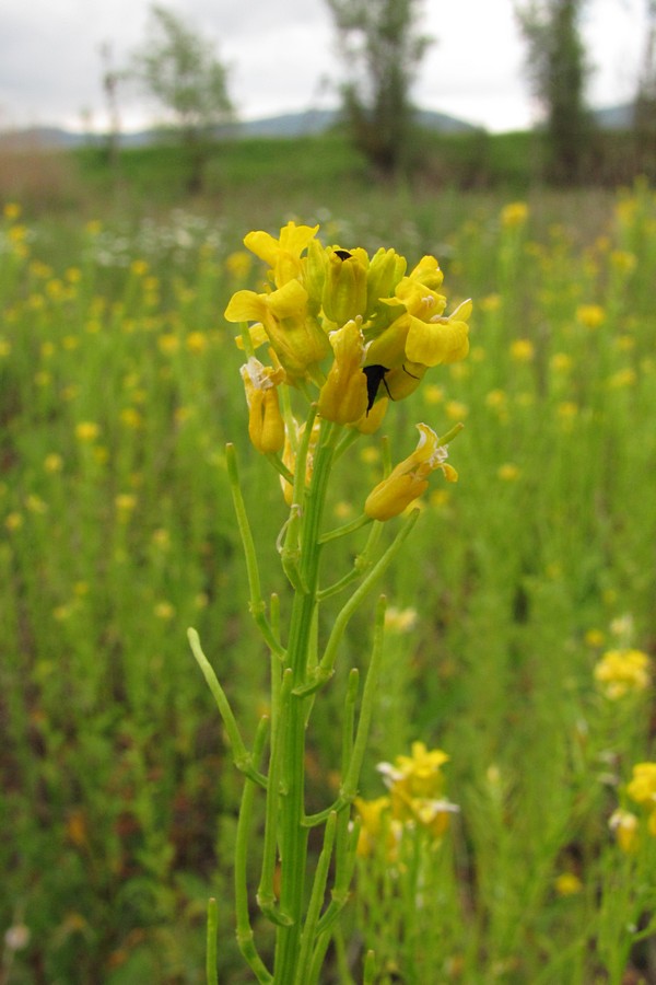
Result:
M437 260L424 256L410 273L405 257L378 250L372 257L358 247L323 246L318 227L288 223L280 236L256 231L245 245L269 267L261 292L238 290L225 317L241 324L242 378L248 404L248 433L280 476L289 518L279 537L282 568L293 591L291 622L283 634L276 596L262 598L256 549L246 515L234 448L227 466L245 549L250 612L271 654L269 715L247 749L225 692L189 630L200 664L222 715L237 768L245 777L235 857L237 941L259 982L280 985L319 981L331 928L349 896L359 824L350 823L371 722L380 660L385 601L380 600L373 650L359 697L353 670L344 695L341 783L324 810L305 810L305 740L315 698L331 679L338 651L353 613L380 580L413 526L418 510L405 519L393 542L378 549L385 521L402 513L440 471L454 482L446 463L447 444L461 425L438 438L425 424L413 453L387 474L366 497L362 514L325 530L325 502L335 462L361 433L380 426L389 401L407 397L426 371L464 359L468 352L471 302L445 315L443 275ZM261 349L266 356L256 356ZM297 407L302 406L303 418ZM352 570L332 582L321 580L321 554L330 541L371 525ZM320 639L318 611L328 598L353 587ZM265 757L267 766L260 769ZM399 786L400 789L400 786ZM276 925L270 970L256 948L250 925L246 857L258 790L266 798L261 877L257 902ZM413 795L414 796L414 795ZM411 804L419 801L412 799ZM324 827L323 849L309 878L308 833ZM332 887L327 897L327 883ZM210 953L208 976L215 981Z

